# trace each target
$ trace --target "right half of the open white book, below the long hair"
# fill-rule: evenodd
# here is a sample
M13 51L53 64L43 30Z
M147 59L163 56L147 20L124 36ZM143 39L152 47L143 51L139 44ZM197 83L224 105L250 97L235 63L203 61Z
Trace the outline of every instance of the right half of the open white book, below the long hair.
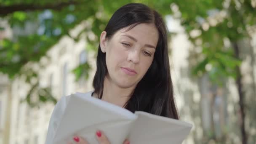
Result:
M181 144L192 124L160 117L146 112L135 112L138 119L129 135L131 144Z

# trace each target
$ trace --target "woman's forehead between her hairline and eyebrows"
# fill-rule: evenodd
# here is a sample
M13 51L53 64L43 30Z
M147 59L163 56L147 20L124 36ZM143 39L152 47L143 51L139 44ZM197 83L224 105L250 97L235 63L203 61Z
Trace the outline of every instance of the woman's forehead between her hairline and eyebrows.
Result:
M123 35L131 35L136 38L139 43L157 45L158 41L158 30L155 24L138 24L132 29L128 30L129 27L120 29L116 36L117 38L123 37Z

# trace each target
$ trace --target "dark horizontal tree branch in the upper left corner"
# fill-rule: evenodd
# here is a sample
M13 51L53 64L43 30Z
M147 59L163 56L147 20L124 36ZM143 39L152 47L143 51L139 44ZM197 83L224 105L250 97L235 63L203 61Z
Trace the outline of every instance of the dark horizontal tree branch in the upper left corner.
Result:
M48 5L34 5L34 4L14 4L9 6L0 5L0 16L7 16L10 13L14 13L16 11L37 11L44 9L52 9L52 10L61 10L68 5L75 5L77 2L63 2L58 4L48 4Z

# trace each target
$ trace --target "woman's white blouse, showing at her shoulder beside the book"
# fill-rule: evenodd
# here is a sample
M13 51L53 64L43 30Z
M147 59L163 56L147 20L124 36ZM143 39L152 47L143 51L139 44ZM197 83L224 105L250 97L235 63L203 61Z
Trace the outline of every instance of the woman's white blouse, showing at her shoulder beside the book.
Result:
M85 96L91 96L93 91L83 93ZM48 126L48 132L45 144L53 144L53 138L56 134L56 130L59 126L62 115L66 109L67 103L69 102L70 96L62 96L61 99L57 102L51 114L51 119Z

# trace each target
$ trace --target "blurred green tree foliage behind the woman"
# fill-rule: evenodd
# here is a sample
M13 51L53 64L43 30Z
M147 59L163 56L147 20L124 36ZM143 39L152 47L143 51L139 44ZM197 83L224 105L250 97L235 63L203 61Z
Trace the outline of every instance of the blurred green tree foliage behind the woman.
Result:
M39 64L64 35L75 41L82 38L83 32L99 36L117 8L131 2L145 3L164 16L172 14L181 20L197 55L193 75L200 77L207 72L219 85L223 85L225 77L237 78L235 68L240 66L241 59L235 56L233 45L243 38L251 38L251 27L256 24L253 0L0 0L0 16L13 29L12 39L0 40L0 72L11 80L26 77L26 83L31 85L26 101L31 106L37 104L31 101L33 93L38 93L40 102L56 103L51 88L40 88L38 73L28 72L26 64ZM71 35L70 29L84 20L92 21L91 27L77 36ZM3 30L0 26L0 31ZM86 37L86 40L87 49L96 51L99 39ZM90 68L85 63L72 72L79 80L88 77Z

